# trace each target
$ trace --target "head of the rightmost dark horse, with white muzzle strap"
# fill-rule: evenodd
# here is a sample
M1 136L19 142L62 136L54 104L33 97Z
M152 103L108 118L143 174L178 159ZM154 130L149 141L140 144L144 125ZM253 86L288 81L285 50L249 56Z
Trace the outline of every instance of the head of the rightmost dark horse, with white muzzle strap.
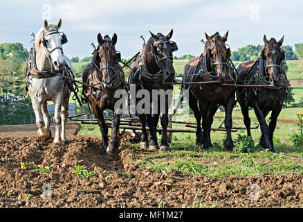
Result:
M264 35L264 49L261 52L261 59L265 60L265 73L269 75L271 84L279 84L282 77L280 74L283 74L282 61L285 60L285 53L281 49L284 35L277 42L275 38L271 38L269 41Z

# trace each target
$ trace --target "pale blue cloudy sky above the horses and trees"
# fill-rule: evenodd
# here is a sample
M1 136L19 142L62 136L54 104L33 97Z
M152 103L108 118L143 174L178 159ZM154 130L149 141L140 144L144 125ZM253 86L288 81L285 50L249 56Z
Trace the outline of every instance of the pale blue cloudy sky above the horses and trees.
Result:
M203 51L205 33L229 31L226 44L232 51L248 44L264 44L268 39L284 45L303 42L303 1L288 0L73 0L73 1L0 1L0 44L21 42L30 49L32 37L42 28L44 19L57 23L68 37L64 54L68 57L91 56L91 42L97 35L118 35L116 50L122 58L131 58L142 48L140 35L148 40L149 31L167 35L178 44L174 56Z

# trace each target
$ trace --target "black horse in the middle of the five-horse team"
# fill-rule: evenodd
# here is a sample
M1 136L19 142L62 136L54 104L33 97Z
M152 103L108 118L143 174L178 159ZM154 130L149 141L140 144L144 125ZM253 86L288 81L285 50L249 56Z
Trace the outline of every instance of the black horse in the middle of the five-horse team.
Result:
M162 152L170 151L167 142L167 125L168 109L172 102L173 87L172 85L165 85L163 83L172 83L172 80L174 80L175 71L172 65L172 52L176 51L178 47L175 42L170 41L172 33L173 30L166 36L161 33L158 33L157 35L151 33L152 37L144 44L143 52L131 64L129 74L129 87L131 88L136 85L136 95L138 95L140 89L147 90L149 94L149 104L143 105L144 112L138 113L137 110L140 99L132 99L136 100L136 112L142 126L140 147L146 148L149 146L151 150L159 149L156 127L158 125L160 113L162 113L161 126L163 128L163 134L160 145L160 151ZM164 91L159 91L160 93L156 95L156 99L154 97L153 101L153 94L155 96L155 91L158 92L159 89ZM149 127L149 144L146 124Z

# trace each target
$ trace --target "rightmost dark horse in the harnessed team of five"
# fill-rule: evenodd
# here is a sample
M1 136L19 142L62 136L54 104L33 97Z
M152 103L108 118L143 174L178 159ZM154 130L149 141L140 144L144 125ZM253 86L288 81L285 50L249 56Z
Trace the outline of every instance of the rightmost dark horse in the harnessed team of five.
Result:
M274 38L268 41L264 35L265 46L259 59L242 62L237 68L239 84L275 85L275 87L239 87L237 89L237 99L241 105L247 135L251 135L248 108L252 107L262 133L259 144L270 151L273 151L273 132L277 125L277 117L288 93L288 80L282 66L282 61L285 60L285 53L281 49L283 40L284 36L279 42ZM270 111L272 113L268 127L265 118Z

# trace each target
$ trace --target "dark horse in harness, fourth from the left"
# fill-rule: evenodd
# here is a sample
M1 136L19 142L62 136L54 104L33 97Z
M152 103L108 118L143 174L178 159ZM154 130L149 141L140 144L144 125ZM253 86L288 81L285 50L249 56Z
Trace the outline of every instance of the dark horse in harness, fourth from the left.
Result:
M219 33L208 36L200 57L193 58L184 68L184 83L209 82L208 84L183 85L183 88L190 89L189 105L194 111L196 118L196 144L203 144L203 148L212 146L210 129L214 114L219 105L225 108L226 117L224 120L227 137L224 146L232 150L232 109L235 105L235 87L221 85L221 83L235 83L235 69L230 62L230 49L226 47L226 35L221 37ZM199 101L199 108L198 108ZM203 119L203 133L201 130L201 117Z

